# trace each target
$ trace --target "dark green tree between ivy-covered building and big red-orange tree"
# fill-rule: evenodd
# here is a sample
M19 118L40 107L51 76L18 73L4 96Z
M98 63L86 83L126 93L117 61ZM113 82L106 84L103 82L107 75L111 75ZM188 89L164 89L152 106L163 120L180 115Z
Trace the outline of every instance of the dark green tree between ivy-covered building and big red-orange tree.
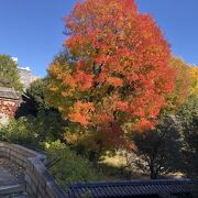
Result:
M33 125L32 130L38 134L40 142L63 140L65 127L68 124L56 109L47 106L45 100L46 84L45 78L32 82L16 112L16 118L26 117L29 119Z

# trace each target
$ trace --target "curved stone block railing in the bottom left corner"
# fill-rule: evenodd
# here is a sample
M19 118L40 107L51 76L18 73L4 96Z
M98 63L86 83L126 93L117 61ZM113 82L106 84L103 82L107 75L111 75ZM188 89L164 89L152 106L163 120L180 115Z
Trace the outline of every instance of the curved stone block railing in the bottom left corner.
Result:
M47 172L46 156L24 146L0 142L0 157L7 157L25 169L25 188L32 198L65 198L54 177Z

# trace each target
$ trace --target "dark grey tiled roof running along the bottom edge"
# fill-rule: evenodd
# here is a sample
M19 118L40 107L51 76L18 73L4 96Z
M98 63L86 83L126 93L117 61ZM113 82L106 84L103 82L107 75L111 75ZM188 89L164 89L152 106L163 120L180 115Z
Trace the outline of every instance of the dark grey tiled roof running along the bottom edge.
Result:
M139 180L97 182L73 184L67 189L68 197L177 197L198 198L198 180Z

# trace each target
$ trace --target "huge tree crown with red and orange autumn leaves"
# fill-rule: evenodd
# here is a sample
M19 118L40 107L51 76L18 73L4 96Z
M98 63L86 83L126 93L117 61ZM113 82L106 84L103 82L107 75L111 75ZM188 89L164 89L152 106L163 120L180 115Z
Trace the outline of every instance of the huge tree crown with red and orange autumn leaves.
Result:
M86 0L65 22L67 54L48 68L48 102L107 136L153 128L174 80L169 45L153 18L133 0Z

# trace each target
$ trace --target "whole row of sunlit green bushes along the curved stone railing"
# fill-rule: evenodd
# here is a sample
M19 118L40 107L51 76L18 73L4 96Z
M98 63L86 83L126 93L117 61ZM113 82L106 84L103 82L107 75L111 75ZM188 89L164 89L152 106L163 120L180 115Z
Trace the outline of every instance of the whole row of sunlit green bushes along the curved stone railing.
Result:
M70 151L66 144L61 143L61 141L52 143L42 142L41 136L43 136L44 130L46 130L45 134L47 134L47 129L38 120L41 121L41 119L33 117L10 120L7 125L0 127L0 136L3 141L10 143L42 147L48 154L50 161L59 156L61 161L52 166L50 172L63 188L72 182L98 180L100 178L101 174L94 168L92 164ZM41 131L41 129L43 130ZM47 135L45 141L51 142L53 139L50 134Z

